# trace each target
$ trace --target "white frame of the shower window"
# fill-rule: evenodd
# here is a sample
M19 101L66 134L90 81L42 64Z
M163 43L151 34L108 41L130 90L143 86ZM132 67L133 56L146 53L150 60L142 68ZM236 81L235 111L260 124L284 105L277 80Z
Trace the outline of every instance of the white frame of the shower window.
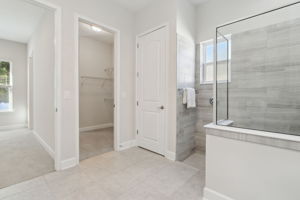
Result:
M230 51L231 51L231 35L226 35L225 37L230 40L230 45L229 46L230 46ZM220 38L220 40L224 40L224 39ZM201 85L213 84L214 83L214 80L213 81L206 81L205 80L205 69L206 69L205 66L210 65L210 64L214 65L214 59L213 59L212 62L209 62L209 63L205 62L205 58L206 58L205 47L208 46L208 45L213 45L213 48L215 48L215 40L210 39L210 40L200 42L200 84ZM230 61L231 61L231 56L230 56L229 62ZM226 63L226 62L227 62L227 60L218 61L218 63ZM229 66L228 66L228 71L229 71L229 74L228 74L229 75L229 77L228 77L229 80L228 80L228 82L231 82L231 64L229 64ZM227 83L227 80L218 80L218 83Z

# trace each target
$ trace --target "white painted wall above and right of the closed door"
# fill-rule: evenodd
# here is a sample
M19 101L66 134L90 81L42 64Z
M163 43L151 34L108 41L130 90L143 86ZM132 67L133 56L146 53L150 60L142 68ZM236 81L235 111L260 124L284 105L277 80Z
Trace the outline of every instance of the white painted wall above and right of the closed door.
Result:
M170 62L168 66L168 151L176 151L176 1L154 1L135 15L135 35L168 23Z

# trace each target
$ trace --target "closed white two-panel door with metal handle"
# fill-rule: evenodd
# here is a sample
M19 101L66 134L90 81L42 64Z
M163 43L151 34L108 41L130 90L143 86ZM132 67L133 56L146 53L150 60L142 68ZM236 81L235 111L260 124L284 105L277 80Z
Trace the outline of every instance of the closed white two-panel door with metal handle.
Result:
M164 155L166 127L167 28L138 38L137 143Z

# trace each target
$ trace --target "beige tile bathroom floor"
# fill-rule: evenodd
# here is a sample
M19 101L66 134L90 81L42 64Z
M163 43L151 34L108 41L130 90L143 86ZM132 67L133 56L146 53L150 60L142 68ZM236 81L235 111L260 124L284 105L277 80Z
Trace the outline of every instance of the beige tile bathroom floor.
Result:
M138 147L104 153L72 169L2 189L0 199L200 200L204 157L192 156L172 162Z

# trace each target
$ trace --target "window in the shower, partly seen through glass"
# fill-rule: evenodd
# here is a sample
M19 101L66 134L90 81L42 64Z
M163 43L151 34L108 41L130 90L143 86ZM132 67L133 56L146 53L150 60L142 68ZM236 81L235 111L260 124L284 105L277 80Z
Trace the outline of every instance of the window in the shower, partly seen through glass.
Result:
M231 40L220 39L217 52L218 82L227 82L227 51L230 72ZM214 40L200 43L200 53L200 84L212 84L214 80ZM230 73L228 75L230 80Z

